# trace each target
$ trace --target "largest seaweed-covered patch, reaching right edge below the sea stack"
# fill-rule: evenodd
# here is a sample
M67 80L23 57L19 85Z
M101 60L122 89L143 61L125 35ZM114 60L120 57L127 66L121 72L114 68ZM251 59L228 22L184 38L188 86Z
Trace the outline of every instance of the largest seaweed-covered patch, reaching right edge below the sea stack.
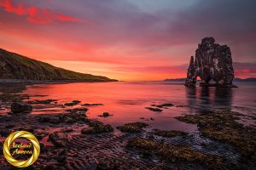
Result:
M256 165L256 128L236 122L240 120L239 116L242 115L234 111L217 110L176 118L181 122L197 124L200 133L207 138L234 145L242 157Z

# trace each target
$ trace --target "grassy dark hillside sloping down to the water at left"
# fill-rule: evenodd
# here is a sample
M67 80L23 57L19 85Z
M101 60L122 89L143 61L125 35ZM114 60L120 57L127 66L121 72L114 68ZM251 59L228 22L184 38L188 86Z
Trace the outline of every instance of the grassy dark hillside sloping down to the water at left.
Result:
M0 48L0 79L24 81L110 82L108 77L67 71Z

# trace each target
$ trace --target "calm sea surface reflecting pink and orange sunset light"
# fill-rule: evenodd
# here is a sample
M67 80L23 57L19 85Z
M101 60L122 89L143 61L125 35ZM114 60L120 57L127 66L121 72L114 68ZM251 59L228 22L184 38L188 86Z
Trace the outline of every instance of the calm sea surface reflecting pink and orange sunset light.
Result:
M239 88L185 88L183 82L96 82L43 84L29 86L23 93L48 95L40 99L58 99L65 104L74 99L82 104L101 103L89 106L87 116L119 126L127 122L148 122L152 128L195 131L195 125L178 122L175 116L195 114L218 108L229 108L247 116L256 116L256 83L235 82ZM145 109L150 105L172 103L186 107L170 107L162 112ZM113 116L99 117L102 112ZM61 112L58 108L40 108L33 114ZM143 119L142 119L143 117ZM154 121L150 120L153 118ZM245 118L244 124L255 124Z

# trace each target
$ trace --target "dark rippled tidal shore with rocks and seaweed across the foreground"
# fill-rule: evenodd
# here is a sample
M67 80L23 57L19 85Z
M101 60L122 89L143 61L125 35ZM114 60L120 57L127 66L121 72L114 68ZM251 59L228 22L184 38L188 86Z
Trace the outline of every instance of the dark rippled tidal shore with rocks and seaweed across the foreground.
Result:
M3 139L11 132L26 130L33 133L41 144L39 159L32 165L34 169L250 169L255 163L251 160L253 158L247 160L248 155L241 155L241 143L227 140L230 136L225 134L225 130L229 129L231 134L234 133L234 139L247 135L247 139L254 141L254 137L247 132L254 132L255 127L247 129L237 124L235 121L244 115L232 111L209 112L211 117L204 114L177 116L180 122L197 125L198 131L186 133L151 129L143 120L113 127L88 118L90 105L100 107L101 104L83 106L78 100L73 100L60 105L55 99L40 100L43 96L32 100L33 96L26 94L0 95L1 106L5 107L3 114L0 114L0 149ZM43 109L54 105L62 111L39 115L22 111L8 113L10 105L15 102ZM148 109L155 107L158 110L153 111L160 111L168 106L172 107L171 104L163 104L151 105ZM219 127L224 127L224 130ZM221 138L216 138L216 133L220 133ZM242 143L245 153L251 145L246 142L247 139L243 139ZM3 162L0 168L9 168L2 154L0 152Z

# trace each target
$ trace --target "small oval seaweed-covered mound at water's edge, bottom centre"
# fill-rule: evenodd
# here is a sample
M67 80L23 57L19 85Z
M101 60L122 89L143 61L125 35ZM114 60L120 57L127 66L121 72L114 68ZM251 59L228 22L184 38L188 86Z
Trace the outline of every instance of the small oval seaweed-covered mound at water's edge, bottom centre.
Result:
M131 122L117 128L124 133L141 133L144 127L148 127L148 124L145 122Z

